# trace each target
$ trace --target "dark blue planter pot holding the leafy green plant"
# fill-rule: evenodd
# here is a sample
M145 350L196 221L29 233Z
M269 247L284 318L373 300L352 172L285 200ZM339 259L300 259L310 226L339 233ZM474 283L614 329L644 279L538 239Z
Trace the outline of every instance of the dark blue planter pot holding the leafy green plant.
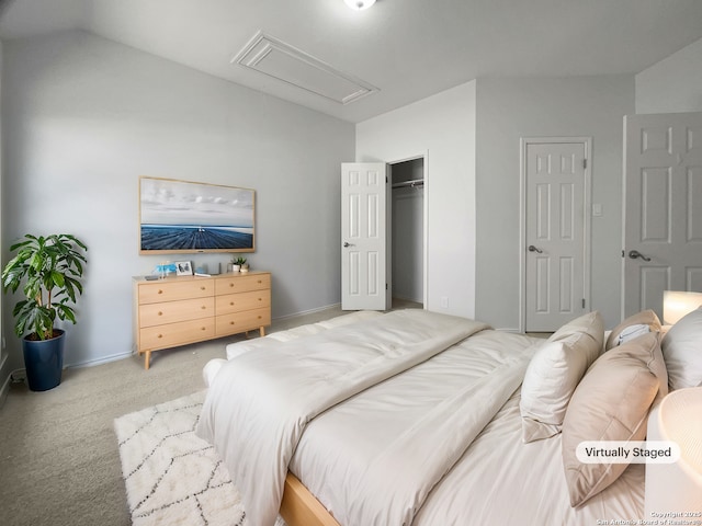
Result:
M32 391L48 391L61 382L66 333L52 340L22 339L26 381Z

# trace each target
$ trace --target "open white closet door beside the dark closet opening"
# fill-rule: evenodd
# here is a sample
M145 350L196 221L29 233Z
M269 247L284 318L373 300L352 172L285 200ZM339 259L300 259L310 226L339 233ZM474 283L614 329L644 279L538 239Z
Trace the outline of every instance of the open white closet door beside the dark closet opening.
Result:
M386 310L389 255L388 168L378 162L341 164L341 308Z

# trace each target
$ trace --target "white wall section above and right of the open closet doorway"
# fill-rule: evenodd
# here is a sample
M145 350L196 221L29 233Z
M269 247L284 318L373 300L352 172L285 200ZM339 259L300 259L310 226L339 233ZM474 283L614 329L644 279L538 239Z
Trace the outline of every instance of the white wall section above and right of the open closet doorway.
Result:
M476 236L475 81L356 125L359 162L396 162L422 155L427 155L424 199L429 254L424 307L472 318Z

